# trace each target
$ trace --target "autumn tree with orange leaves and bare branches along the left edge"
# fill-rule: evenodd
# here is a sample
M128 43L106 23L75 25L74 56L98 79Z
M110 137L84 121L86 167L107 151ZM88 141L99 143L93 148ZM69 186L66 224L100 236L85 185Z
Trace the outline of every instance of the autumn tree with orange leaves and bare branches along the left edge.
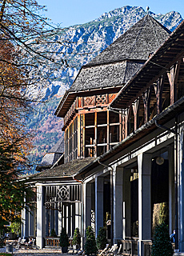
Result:
M20 219L25 197L30 207L34 196L20 175L30 166L33 136L24 126L33 101L27 90L46 77L38 63L54 62L40 47L48 34L42 8L34 0L0 0L0 228Z

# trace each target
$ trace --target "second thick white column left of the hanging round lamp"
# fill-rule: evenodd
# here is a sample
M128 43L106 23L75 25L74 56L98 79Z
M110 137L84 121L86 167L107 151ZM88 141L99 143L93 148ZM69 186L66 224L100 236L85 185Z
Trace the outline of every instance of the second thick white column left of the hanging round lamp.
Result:
M116 167L113 173L113 225L114 225L114 243L122 239L122 176L123 168Z

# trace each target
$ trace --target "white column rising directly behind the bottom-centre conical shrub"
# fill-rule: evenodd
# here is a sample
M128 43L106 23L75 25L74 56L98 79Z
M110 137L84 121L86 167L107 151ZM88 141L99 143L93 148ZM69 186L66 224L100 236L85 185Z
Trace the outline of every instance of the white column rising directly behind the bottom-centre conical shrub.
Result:
M91 226L91 184L84 183L84 234L86 228Z

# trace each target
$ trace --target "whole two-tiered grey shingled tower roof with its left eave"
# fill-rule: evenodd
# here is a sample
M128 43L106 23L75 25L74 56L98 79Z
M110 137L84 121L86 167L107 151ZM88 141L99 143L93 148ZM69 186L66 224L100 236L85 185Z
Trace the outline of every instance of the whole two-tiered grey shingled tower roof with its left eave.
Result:
M123 86L142 67L166 38L170 30L146 15L91 62L82 66L70 89L59 102L56 115L64 117L75 93ZM70 98L70 99L69 99Z

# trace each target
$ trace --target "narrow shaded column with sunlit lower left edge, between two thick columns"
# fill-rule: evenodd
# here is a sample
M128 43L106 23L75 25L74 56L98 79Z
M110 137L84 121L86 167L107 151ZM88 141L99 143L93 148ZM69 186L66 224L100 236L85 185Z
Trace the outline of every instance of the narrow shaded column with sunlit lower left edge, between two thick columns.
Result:
M122 189L122 238L131 236L131 191L130 191L131 170L123 170L123 189Z

